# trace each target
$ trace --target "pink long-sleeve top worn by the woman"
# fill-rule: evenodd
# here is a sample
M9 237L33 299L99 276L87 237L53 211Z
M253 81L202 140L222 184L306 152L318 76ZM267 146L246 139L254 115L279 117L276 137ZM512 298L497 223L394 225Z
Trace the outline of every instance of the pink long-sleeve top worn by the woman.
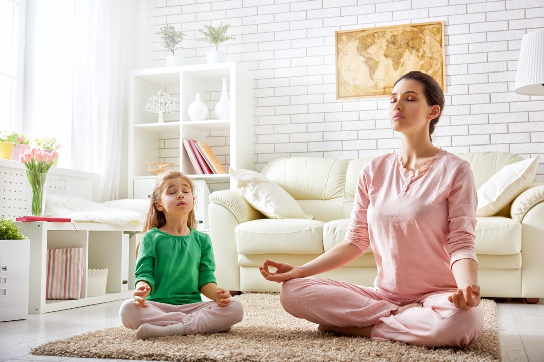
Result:
M395 300L456 289L451 270L474 259L478 198L467 161L445 150L415 173L399 151L376 158L359 177L346 239L372 246L374 286Z

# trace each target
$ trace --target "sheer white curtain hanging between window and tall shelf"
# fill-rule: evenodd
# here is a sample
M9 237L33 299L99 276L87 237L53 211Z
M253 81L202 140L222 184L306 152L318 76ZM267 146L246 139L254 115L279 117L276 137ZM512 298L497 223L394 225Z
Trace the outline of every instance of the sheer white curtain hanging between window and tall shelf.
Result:
M100 174L95 201L119 196L131 18L130 0L75 0L71 165Z

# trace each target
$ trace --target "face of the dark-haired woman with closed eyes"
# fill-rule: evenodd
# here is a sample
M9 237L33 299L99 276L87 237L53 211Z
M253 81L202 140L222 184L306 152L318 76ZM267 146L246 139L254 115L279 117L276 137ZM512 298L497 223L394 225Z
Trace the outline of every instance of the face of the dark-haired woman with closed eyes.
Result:
M423 85L414 79L401 79L389 97L391 129L404 135L429 133L429 123L438 116L440 107L430 106Z

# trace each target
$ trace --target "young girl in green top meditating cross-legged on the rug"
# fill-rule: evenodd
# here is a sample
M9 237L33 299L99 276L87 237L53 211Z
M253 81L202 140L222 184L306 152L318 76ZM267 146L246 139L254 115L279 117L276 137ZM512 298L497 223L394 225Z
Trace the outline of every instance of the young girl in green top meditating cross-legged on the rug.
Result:
M242 303L218 288L212 242L195 230L194 185L177 171L157 177L136 247L134 299L123 302L123 326L136 338L225 332L242 320ZM212 301L202 301L201 293Z

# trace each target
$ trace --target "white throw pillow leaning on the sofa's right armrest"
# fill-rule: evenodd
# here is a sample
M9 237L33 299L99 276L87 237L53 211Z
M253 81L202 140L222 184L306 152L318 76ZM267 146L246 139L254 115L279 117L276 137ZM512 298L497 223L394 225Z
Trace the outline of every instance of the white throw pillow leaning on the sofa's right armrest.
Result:
M525 190L536 175L539 158L508 164L478 189L476 216L493 216Z

